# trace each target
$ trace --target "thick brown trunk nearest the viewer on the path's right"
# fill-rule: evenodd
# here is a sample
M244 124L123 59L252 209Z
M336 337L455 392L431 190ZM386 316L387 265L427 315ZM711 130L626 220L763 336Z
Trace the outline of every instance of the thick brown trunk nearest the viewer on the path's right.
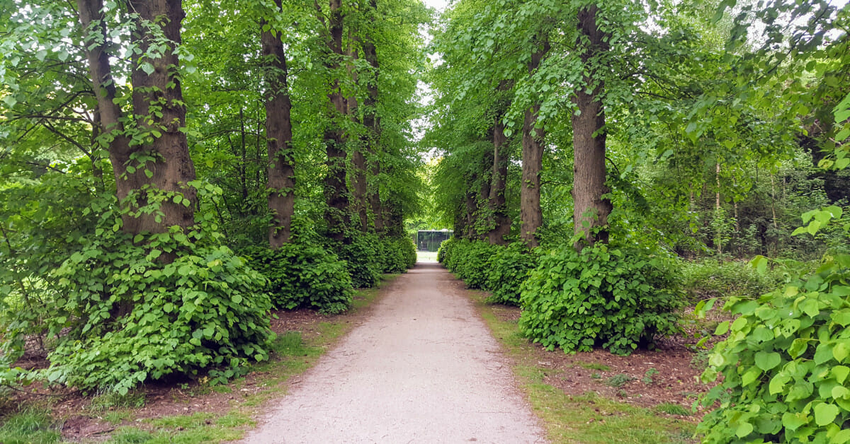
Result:
M598 73L600 53L608 51L608 36L597 25L598 8L595 5L581 8L578 13L581 37L577 44L581 48L581 61L585 65L583 83L575 88L575 104L578 113L572 117L574 178L573 178L573 221L575 233L583 233L584 244L608 242L608 215L611 201L603 199L609 192L605 185L605 112L602 104L604 81ZM587 43L584 42L587 39ZM587 45L587 46L585 46ZM587 88L592 87L591 93ZM594 136L594 133L596 135ZM593 233L599 228L598 233ZM581 249L583 244L577 244Z

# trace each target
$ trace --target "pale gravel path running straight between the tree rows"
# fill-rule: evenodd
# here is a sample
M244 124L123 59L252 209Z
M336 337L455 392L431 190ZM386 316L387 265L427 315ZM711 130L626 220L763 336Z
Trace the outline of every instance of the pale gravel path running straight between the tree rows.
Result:
M462 284L420 262L382 291L245 442L545 442Z

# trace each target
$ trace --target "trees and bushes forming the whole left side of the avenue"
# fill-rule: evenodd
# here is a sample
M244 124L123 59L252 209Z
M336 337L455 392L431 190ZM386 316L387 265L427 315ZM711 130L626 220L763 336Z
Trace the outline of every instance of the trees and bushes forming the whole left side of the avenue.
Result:
M224 381L413 265L422 3L0 5L3 385Z

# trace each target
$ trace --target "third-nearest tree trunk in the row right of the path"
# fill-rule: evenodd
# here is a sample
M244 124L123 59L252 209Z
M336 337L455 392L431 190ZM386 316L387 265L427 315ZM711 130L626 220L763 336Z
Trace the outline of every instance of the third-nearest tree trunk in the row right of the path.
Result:
M501 124L501 116L497 116L496 125L493 126L493 172L489 199L494 226L490 233L487 233L490 244L507 244L505 236L511 233L511 218L507 216L507 205L505 205L508 163L510 158L507 155L505 126Z

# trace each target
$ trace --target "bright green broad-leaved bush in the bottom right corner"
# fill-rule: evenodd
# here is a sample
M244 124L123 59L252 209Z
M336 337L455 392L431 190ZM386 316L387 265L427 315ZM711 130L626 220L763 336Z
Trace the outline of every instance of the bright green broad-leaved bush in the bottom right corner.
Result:
M702 374L723 382L702 403L719 408L706 442L850 441L850 256L757 299L733 297Z

